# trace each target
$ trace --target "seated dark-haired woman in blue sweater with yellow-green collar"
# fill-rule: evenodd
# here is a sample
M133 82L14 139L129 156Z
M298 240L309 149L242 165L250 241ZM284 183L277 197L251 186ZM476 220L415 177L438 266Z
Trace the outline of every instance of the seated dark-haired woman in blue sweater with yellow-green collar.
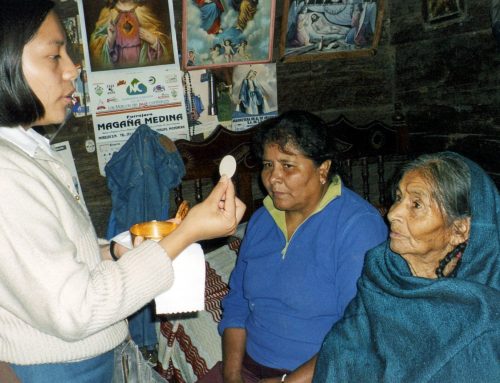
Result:
M268 196L248 223L223 301L224 360L201 382L310 381L323 338L356 293L365 252L387 238L378 211L336 174L319 117L290 111L262 124L256 149Z

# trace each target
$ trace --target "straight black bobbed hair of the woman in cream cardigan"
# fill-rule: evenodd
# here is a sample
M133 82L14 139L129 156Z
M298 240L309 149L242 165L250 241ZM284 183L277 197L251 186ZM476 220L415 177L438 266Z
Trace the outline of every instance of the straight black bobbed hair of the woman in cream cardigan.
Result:
M0 126L29 126L45 114L23 73L24 46L54 7L51 0L7 0L0 12Z

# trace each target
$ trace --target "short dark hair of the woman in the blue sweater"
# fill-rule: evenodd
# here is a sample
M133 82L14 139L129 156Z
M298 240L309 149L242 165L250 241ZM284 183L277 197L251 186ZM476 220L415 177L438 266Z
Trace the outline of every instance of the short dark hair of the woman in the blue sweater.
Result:
M254 137L254 152L259 159L262 159L264 147L269 144L278 145L282 151L291 145L316 166L331 160L328 179L332 180L337 175L337 153L328 140L328 126L311 112L290 110L261 122Z

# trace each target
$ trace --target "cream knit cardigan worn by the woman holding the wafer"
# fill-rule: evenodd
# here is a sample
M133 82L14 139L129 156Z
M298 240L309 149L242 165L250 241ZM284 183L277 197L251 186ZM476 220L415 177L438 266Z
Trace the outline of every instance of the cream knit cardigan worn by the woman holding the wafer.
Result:
M76 361L120 344L127 316L173 283L170 258L146 241L102 261L71 174L41 148L0 138L0 360Z

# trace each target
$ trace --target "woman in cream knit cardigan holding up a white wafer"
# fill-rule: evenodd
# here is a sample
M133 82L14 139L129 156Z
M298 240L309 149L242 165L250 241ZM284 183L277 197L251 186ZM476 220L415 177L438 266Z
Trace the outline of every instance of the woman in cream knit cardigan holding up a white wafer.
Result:
M111 382L124 318L171 286L185 247L233 233L245 207L224 177L172 234L116 245L113 261L31 129L65 120L77 76L53 5L6 0L0 12L0 361L22 382Z

